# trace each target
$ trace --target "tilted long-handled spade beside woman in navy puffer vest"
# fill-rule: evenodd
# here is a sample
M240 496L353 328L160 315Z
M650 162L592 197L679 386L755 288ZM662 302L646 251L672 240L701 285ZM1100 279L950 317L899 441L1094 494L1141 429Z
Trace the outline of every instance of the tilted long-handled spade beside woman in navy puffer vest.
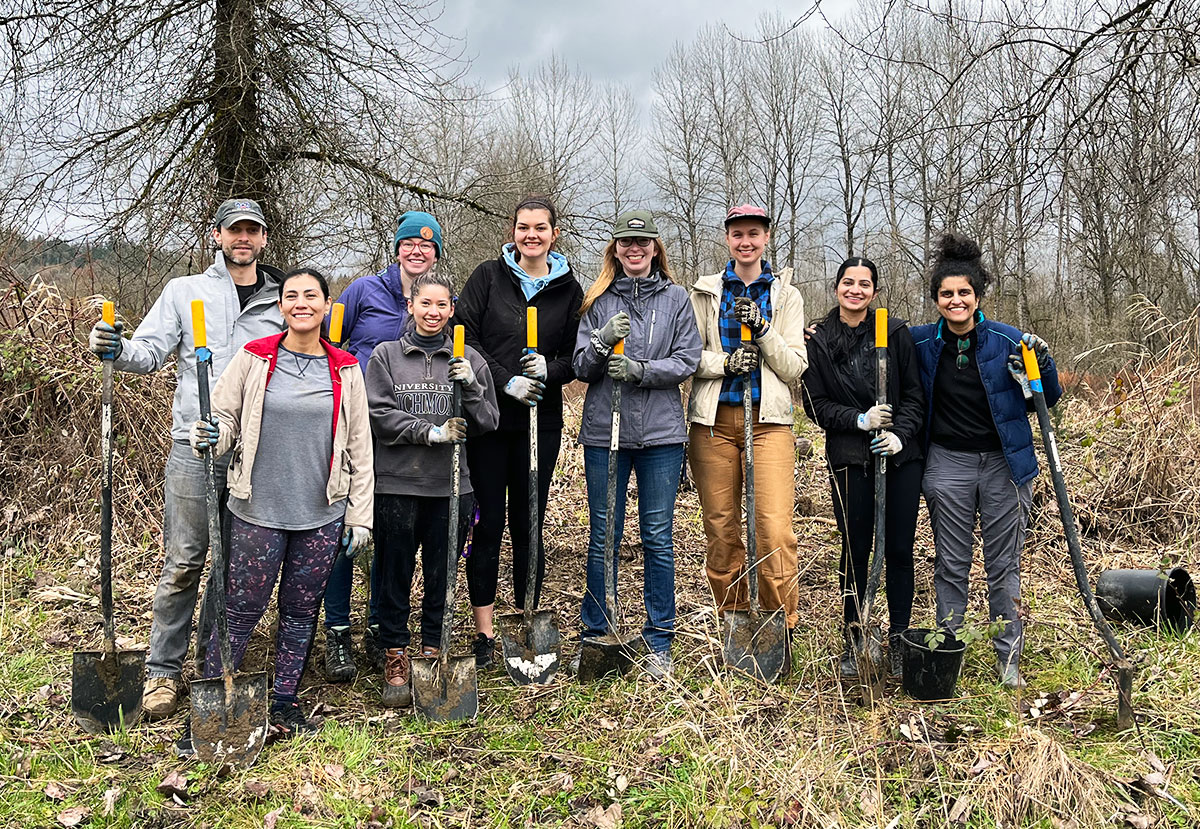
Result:
M1087 614L1092 617L1092 624L1109 647L1112 663L1117 669L1117 728L1124 731L1133 726L1133 663L1126 657L1117 637L1112 635L1087 582L1087 567L1084 565L1084 552L1079 545L1079 528L1075 525L1075 513L1070 509L1067 481L1062 476L1062 462L1058 459L1058 441L1055 440L1054 423L1050 422L1050 410L1046 408L1045 394L1042 390L1042 370L1038 367L1033 349L1025 343L1021 343L1021 356L1025 360L1025 373L1030 379L1030 391L1033 392L1033 408L1038 412L1038 427L1042 429L1042 440L1050 462L1050 477L1054 480L1054 494L1058 501L1063 535L1067 536L1070 566L1075 571L1075 585L1084 599Z

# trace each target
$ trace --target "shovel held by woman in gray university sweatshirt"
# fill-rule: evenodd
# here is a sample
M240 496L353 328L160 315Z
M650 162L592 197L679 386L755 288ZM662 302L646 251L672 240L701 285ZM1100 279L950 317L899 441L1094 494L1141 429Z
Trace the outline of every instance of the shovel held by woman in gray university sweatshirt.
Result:
M454 355L464 350L466 329L454 326ZM462 384L455 380L451 417L462 416ZM450 629L454 620L454 588L458 576L458 475L462 444L455 443L450 459L450 527L446 541L446 605L442 614L442 647L437 656L413 660L413 705L427 720L469 720L479 714L479 681L475 657L450 659Z

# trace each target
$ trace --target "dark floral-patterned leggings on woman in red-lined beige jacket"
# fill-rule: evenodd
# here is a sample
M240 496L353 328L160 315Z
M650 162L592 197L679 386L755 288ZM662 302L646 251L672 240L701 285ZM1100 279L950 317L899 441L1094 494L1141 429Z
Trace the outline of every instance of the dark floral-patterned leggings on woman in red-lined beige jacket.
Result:
M246 655L250 635L266 612L275 578L281 565L283 567L280 630L275 637L276 699L294 701L296 697L341 533L341 518L317 529L283 530L233 516L227 612L234 669ZM221 675L221 641L216 625L209 639L204 675Z

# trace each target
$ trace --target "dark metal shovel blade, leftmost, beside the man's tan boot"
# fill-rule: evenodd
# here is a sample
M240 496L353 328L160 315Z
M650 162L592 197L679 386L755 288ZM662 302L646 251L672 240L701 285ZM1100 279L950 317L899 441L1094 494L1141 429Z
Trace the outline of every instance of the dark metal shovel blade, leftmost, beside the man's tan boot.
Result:
M89 734L131 728L142 719L144 650L77 650L71 662L71 713Z

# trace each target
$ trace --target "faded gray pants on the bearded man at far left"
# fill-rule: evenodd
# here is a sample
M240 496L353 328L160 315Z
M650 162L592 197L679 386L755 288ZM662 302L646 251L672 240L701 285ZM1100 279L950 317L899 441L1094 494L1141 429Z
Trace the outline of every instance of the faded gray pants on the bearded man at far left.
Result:
M224 489L229 455L217 458L217 492ZM166 560L154 594L150 655L146 674L180 678L192 637L192 614L200 573L209 552L209 512L204 489L204 461L186 443L175 441L167 457L162 534ZM205 624L204 608L200 625Z

